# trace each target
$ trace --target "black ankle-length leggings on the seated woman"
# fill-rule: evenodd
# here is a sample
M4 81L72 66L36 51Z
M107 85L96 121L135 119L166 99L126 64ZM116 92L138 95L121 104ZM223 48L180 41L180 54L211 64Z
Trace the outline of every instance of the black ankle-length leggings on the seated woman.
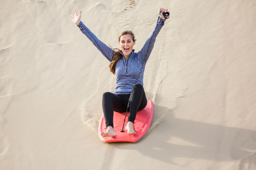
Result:
M132 94L115 95L111 92L105 92L103 94L102 108L107 127L112 126L114 128L114 111L119 113L126 112L130 95L132 96L128 108L128 111L130 112L128 121L134 123L137 111L140 111L147 106L146 94L141 84L135 84L133 86Z

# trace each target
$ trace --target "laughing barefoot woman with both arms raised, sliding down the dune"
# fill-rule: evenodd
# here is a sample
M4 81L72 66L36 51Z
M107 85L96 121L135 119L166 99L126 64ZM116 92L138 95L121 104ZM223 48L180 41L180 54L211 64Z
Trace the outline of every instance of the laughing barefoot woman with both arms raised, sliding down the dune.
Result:
M137 111L140 111L147 105L147 98L143 89L145 64L153 49L156 36L164 25L165 17L163 12L167 12L167 9L161 7L158 12L159 17L157 24L145 45L138 53L134 53L133 46L135 45L135 38L132 31L127 30L121 32L118 38L121 49L112 49L102 43L83 24L81 21L81 12L77 14L74 10L73 14L71 14L72 18L70 19L81 29L84 35L92 41L93 45L100 50L103 56L109 60L110 72L116 74L116 88L114 93L105 92L102 97L102 108L107 126L106 132L101 132L103 137L116 136L113 125L114 111L119 113L125 112L130 97L130 113L125 129L127 130L127 134L136 134L133 129L133 123Z

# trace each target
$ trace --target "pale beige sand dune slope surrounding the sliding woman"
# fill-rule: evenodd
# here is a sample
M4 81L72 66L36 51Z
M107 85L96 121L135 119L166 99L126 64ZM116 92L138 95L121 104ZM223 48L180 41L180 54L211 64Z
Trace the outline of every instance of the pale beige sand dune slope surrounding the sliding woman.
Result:
M137 143L97 132L109 62L104 43L134 31L138 52L166 7L145 70L155 105ZM255 1L1 1L0 169L256 169Z

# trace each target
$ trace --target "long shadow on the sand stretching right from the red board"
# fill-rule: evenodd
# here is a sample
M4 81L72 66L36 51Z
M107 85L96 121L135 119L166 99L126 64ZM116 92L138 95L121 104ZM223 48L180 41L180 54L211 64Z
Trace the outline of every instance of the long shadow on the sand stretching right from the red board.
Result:
M138 150L147 157L168 164L175 164L173 159L177 157L256 164L256 131L182 120L162 106L155 106L155 113L157 111L166 111L162 122L157 123L139 142L109 145ZM153 118L153 123L156 119ZM172 138L178 138L180 144L172 143Z

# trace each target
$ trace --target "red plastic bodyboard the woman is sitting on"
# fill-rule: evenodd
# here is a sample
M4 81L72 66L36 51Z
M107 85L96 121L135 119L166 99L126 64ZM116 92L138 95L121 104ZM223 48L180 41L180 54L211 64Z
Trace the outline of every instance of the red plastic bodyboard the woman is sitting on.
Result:
M102 137L101 132L105 132L107 130L104 115L100 118L98 133L100 139L105 142L137 142L139 141L148 131L154 114L154 104L153 101L149 100L147 106L141 111L137 112L135 121L133 123L134 131L136 134L129 135L125 130L125 126L127 124L127 117L129 112L127 112L127 116L124 124L124 132L122 131L125 113L117 113L114 112L114 130L116 132L115 137Z

